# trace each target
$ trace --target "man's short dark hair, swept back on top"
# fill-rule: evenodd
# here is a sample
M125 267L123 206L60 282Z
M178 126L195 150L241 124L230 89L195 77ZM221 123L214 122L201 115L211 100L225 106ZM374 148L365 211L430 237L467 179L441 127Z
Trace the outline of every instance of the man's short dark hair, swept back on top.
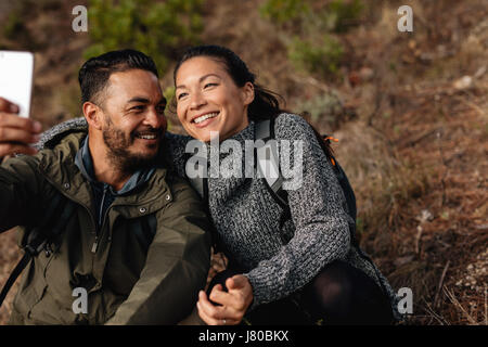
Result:
M111 75L133 68L144 69L159 77L154 61L139 51L112 51L91 57L81 66L78 74L81 102L101 103L100 93L105 89Z

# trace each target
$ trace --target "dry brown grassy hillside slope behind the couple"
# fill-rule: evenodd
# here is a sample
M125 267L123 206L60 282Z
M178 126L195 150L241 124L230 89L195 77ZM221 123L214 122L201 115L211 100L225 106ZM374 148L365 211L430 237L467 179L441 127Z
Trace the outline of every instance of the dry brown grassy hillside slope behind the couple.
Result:
M414 31L399 33L401 1L363 1L362 20L336 35L345 54L334 78L295 67L290 28L260 15L264 1L205 1L202 40L235 50L286 108L308 111L339 139L361 245L396 290L413 291L406 323L487 324L488 1L410 2ZM84 1L38 3L18 12L24 35L0 35L0 46L36 51L33 114L47 128L79 115L76 73L90 41L70 30L70 9ZM1 9L5 17L15 11ZM171 78L168 69L162 83ZM306 103L331 94L341 108L333 121ZM14 233L0 235L0 285L18 256Z

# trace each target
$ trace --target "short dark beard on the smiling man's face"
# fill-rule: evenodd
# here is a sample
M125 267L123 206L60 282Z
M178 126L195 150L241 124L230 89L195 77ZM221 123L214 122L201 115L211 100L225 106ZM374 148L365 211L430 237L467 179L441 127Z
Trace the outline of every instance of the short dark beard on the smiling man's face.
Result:
M102 131L103 141L108 149L108 160L114 168L123 174L133 174L137 170L153 167L156 164L158 157L158 151L154 154L131 153L129 151L130 145L133 144L136 133L131 132L126 136L124 131L114 127L113 123L107 119L106 129ZM144 132L157 133L158 139L162 138L162 129L147 129ZM158 143L151 144L149 147L159 146Z

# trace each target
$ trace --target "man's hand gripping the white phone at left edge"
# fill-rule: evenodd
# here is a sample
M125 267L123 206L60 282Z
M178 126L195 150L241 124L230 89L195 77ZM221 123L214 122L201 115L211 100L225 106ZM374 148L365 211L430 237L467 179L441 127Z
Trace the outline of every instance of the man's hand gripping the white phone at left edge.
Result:
M17 113L17 105L0 98L0 160L15 153L37 153L29 144L39 141L42 126L34 119L18 117Z

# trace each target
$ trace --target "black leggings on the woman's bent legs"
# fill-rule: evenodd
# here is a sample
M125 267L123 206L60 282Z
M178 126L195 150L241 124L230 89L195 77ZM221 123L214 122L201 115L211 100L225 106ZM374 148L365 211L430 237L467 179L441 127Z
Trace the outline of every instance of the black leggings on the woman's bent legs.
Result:
M219 272L207 293L236 271ZM258 306L245 318L260 324L390 324L391 305L380 286L364 272L345 261L326 265L297 293L278 301Z

